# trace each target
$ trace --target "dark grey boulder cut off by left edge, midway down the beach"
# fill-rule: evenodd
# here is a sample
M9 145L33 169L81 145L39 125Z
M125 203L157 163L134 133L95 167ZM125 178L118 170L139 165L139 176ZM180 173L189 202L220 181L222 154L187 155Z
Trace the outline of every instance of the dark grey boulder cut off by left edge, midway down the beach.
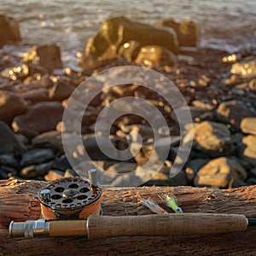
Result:
M14 131L9 128L9 125L0 121L0 154L20 154L22 150Z

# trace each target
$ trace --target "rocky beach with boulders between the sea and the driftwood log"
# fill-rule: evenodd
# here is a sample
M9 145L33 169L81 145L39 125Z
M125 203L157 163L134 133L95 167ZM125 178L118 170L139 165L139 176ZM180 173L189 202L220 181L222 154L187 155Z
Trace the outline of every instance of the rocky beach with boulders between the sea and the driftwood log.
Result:
M16 44L19 49L15 20L0 16L0 32L5 35L0 46ZM101 81L101 93L90 102L81 124L84 148L96 166L113 173L133 172L152 154L154 134L143 118L132 114L116 119L109 135L119 150L131 141L132 151L137 147L132 131L139 131L143 146L131 160L110 159L96 143L94 127L102 109L115 99L133 96L147 99L160 110L168 130L158 133L163 141L172 138L165 165L145 185L234 188L256 184L255 49L230 54L199 48L199 40L193 21L170 19L149 26L112 18L90 38L77 70L63 67L61 49L46 42L33 46L24 58L11 55L8 48L1 50L0 178L50 181L73 175L61 140L61 131L66 129L67 136L73 132L62 122L68 98L92 74L128 65L152 68L172 80L189 105L194 126L188 124L182 136L172 106L154 90L138 84L104 90ZM93 86L87 89L90 93ZM183 106L178 109L182 112ZM185 146L192 140L189 160L177 176L169 177L179 143ZM116 186L120 183L111 181Z

